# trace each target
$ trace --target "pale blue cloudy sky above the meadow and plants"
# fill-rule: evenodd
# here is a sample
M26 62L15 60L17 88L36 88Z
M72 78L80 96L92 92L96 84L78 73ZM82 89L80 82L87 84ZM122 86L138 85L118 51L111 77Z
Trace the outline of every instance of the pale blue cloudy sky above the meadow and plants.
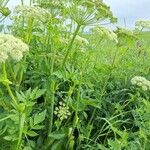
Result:
M8 6L13 8L21 0L10 0ZM24 0L28 2L29 0ZM134 28L136 20L150 20L150 0L104 0L118 18L119 26Z

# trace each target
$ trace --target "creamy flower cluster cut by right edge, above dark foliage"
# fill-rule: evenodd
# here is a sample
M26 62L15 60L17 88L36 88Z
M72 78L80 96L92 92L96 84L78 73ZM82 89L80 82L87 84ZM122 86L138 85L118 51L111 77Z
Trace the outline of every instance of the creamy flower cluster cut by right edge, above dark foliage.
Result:
M133 85L138 85L143 91L150 90L150 81L141 76L135 76L131 79Z

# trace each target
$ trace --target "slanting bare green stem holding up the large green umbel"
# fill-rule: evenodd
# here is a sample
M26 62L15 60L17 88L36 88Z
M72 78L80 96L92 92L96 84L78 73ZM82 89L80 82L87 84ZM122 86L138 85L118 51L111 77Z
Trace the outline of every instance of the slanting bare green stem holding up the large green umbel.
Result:
M71 42L70 42L70 44L69 44L69 46L68 46L68 49L67 49L65 58L64 58L63 63L62 63L62 67L65 66L65 63L66 63L67 58L68 58L68 56L69 56L69 53L70 53L70 50L71 50L71 48L72 48L73 42L74 42L74 40L75 40L75 38L76 38L76 36L77 36L79 30L80 30L80 27L81 27L81 25L78 24L78 26L77 26L77 28L76 28L76 30L75 30L75 32L74 32L74 35L73 35L73 37L72 37L72 40L71 40Z

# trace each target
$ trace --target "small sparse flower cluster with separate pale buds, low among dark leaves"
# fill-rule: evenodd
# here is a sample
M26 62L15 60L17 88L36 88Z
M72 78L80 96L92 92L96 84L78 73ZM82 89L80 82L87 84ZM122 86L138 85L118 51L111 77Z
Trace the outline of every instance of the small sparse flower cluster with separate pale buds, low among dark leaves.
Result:
M71 115L69 107L65 103L59 102L59 107L55 108L54 114L62 121Z

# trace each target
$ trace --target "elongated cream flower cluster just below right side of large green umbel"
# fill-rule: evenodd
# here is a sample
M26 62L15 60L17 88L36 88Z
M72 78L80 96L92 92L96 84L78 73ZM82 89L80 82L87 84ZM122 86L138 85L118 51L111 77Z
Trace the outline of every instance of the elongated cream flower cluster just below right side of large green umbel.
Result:
M100 36L106 37L109 40L118 43L117 35L113 31L111 31L111 30L109 30L109 29L107 29L105 27L102 27L102 26L96 27L93 30L94 30L94 32L96 32Z

